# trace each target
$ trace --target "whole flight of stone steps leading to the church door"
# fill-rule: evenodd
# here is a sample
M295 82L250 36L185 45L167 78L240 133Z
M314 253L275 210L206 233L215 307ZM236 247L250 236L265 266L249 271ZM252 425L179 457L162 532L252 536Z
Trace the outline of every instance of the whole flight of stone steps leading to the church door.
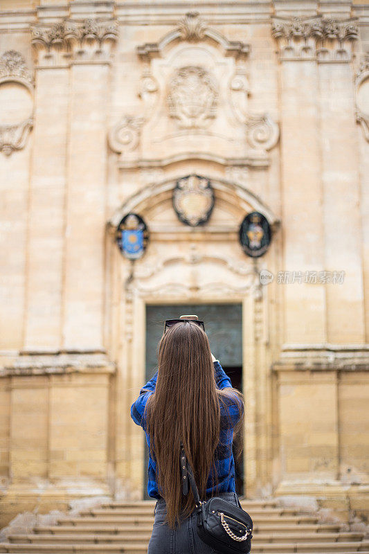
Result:
M369 553L369 533L348 531L345 524L322 523L311 513L278 506L277 500L240 499L254 522L252 554ZM111 501L62 517L53 526L8 535L0 552L22 554L146 554L155 501Z

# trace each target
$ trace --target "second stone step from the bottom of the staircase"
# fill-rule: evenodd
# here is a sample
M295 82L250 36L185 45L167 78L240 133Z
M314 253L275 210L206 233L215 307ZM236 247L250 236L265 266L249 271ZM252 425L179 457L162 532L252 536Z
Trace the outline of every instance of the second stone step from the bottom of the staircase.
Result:
M136 532L137 533L137 532ZM125 542L143 542L147 540L149 542L151 536L151 530L147 533L143 533L143 530L140 529L139 536L130 535L129 533L120 534L120 535L98 535L97 533L91 533L90 535L79 533L71 533L71 535L44 535L44 534L15 534L9 535L8 540L14 543L51 543L55 542L60 544L64 543L121 543ZM290 542L349 542L349 541L361 541L364 537L363 533L348 531L345 533L302 533L300 536L296 537L294 533L260 533L260 535L253 535L253 545L260 542L278 542L280 544L290 543Z

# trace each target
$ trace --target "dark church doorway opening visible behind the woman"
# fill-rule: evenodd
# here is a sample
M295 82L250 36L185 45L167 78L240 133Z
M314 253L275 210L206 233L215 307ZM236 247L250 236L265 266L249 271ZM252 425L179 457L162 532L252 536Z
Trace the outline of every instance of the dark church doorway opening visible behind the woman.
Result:
M205 323L210 348L219 359L232 386L242 391L242 305L228 304L175 304L146 305L146 381L151 379L157 368L156 346L163 334L165 319L177 318L183 314L197 314ZM234 442L237 436L234 437ZM147 464L149 452L145 440L144 499L147 494ZM243 457L235 463L235 488L237 494L244 494Z

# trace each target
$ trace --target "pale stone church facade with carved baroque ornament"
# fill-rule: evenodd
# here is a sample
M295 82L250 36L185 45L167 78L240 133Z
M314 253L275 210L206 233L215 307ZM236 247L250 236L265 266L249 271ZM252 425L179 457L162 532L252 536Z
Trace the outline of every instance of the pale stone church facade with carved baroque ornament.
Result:
M367 517L369 5L1 6L0 526L144 497L129 406L146 307L176 304L241 305L246 497ZM201 225L199 188L174 209L188 176Z

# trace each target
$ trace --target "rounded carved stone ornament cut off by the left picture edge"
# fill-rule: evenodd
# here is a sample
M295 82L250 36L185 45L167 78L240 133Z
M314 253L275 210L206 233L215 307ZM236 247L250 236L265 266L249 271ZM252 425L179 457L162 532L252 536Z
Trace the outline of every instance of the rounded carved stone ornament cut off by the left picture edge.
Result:
M0 58L0 105L0 150L9 156L24 148L33 127L33 77L15 50Z

